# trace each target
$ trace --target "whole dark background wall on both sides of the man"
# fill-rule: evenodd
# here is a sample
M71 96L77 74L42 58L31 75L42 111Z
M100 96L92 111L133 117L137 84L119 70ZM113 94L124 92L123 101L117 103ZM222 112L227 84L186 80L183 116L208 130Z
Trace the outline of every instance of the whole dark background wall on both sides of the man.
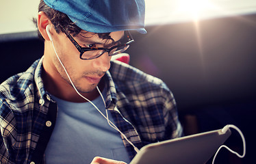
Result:
M216 163L252 163L256 116L256 14L132 32L132 66L162 79L173 92L185 135L235 124L246 137L246 158L222 150ZM0 83L43 54L36 33L0 36ZM242 154L235 131L227 145Z

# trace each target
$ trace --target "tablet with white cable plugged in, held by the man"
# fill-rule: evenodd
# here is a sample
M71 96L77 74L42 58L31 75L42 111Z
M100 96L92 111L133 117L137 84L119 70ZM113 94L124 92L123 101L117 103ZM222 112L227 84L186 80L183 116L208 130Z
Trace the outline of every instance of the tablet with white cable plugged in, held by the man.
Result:
M230 135L229 129L219 129L151 143L141 148L130 164L203 164Z

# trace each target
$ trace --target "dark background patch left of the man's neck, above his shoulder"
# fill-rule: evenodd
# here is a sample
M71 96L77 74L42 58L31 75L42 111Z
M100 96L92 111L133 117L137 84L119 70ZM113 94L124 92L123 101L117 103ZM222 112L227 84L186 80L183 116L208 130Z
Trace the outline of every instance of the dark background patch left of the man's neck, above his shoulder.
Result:
M27 70L43 53L44 43L36 31L0 35L0 83Z

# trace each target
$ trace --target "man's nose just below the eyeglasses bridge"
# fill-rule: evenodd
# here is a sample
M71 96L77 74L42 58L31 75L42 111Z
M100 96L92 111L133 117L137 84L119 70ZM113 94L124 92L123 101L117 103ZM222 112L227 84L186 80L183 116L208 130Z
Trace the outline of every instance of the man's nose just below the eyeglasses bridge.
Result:
M93 67L97 68L97 70L106 72L110 69L110 59L111 56L109 56L107 52L103 53L103 55L101 55L100 57L93 59Z

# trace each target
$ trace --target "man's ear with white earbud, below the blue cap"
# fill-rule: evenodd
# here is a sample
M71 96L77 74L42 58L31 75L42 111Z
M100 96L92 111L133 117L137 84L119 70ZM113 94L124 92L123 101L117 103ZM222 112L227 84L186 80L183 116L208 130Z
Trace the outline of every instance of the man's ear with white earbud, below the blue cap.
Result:
M47 25L50 25L51 21L44 12L38 12L38 30L40 31L44 40L50 40L47 35Z

